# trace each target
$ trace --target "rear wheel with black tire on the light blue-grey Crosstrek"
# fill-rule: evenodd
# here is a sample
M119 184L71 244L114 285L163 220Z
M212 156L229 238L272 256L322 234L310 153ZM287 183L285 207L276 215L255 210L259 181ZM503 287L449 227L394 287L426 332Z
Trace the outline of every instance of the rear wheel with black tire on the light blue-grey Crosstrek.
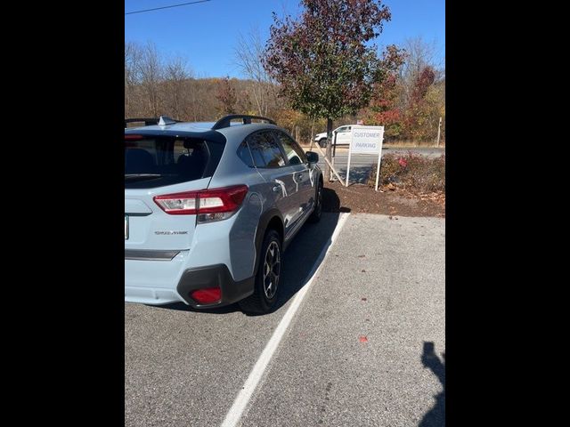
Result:
M267 230L261 246L261 258L257 266L253 294L239 302L240 309L245 313L265 314L273 310L279 297L282 270L281 253L279 233L275 230Z

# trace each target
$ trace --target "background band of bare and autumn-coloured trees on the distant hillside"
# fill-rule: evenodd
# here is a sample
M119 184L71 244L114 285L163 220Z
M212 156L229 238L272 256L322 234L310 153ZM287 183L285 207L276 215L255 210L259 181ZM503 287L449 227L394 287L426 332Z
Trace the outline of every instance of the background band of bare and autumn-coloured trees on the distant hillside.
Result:
M386 141L434 143L439 117L445 135L445 70L435 63L435 49L420 38L400 46L403 61L379 84L370 101L355 114L334 120L338 125L386 126ZM159 117L212 121L240 113L271 117L297 141L326 130L325 118L311 118L290 108L281 86L265 72L265 42L256 32L240 36L236 64L243 76L195 77L188 60L169 58L153 44L125 44L125 117Z

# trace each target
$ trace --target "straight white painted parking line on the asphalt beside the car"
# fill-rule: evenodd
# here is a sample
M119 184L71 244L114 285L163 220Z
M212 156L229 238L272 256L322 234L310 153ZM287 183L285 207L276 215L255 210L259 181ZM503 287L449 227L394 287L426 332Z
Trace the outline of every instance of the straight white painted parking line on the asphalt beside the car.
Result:
M253 392L256 391L256 386L261 380L261 377L264 375L265 369L273 357L273 353L275 350L277 350L277 346L279 346L283 334L285 334L285 331L287 331L291 320L295 316L295 313L301 305L303 298L305 298L305 294L308 292L314 278L316 277L319 270L321 270L321 266L324 263L327 254L329 254L330 248L338 238L338 233L342 229L343 225L345 225L348 215L348 213L341 213L339 215L337 227L335 227L335 230L330 237L330 245L322 249L321 254L319 254L319 258L317 258L317 261L314 263L313 269L307 276L308 279L305 283L305 286L303 286L297 293L295 299L293 299L293 302L291 302L291 305L289 306L289 310L287 310L283 318L281 318L279 326L277 326L269 342L267 342L265 345L265 349L262 351L259 359L257 359L253 369L251 369L248 379L243 384L240 393L233 401L233 405L228 411L227 415L225 415L222 427L234 427L240 422L241 415L243 414L245 408L248 406Z

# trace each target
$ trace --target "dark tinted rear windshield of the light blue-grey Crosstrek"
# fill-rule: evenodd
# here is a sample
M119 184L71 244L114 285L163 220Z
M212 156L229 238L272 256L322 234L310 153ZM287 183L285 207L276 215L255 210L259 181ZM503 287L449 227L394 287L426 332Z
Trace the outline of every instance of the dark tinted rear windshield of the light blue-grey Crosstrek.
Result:
M198 138L125 135L125 188L148 189L208 178L224 147Z

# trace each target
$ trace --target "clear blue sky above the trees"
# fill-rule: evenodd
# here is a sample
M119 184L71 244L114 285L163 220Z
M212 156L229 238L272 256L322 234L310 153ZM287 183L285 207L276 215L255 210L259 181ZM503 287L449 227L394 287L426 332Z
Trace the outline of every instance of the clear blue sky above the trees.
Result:
M125 0L125 12L191 0ZM166 56L180 55L196 77L242 77L234 63L236 38L258 28L264 40L273 23L272 12L297 15L299 0L210 0L207 3L125 15L125 40L151 41ZM444 0L387 0L392 20L376 44L403 44L421 36L435 44L436 58L445 57Z

